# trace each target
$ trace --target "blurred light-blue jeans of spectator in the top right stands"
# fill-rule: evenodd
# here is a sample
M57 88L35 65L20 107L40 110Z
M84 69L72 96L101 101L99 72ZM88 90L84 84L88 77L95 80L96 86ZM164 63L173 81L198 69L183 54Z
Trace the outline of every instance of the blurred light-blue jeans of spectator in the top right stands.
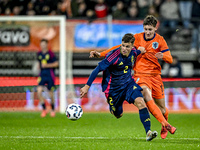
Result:
M193 4L192 1L193 0L179 0L180 15L185 29L188 29L190 25Z

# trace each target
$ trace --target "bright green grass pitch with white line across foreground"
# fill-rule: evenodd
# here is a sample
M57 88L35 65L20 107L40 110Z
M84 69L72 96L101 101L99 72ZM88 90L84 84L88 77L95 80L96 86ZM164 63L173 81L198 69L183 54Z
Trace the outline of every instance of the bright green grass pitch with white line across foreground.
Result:
M185 150L200 149L199 114L170 114L169 122L177 127L165 140L160 134L146 142L138 114L124 113L120 119L109 113L84 113L77 121L64 114L40 118L40 113L0 112L0 149L18 150ZM151 116L152 130L161 125Z

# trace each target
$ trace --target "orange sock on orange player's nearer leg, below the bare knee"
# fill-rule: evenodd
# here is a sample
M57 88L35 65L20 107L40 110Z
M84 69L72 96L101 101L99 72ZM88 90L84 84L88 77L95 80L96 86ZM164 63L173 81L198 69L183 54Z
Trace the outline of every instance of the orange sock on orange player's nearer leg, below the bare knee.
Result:
M169 124L162 112L160 111L160 109L158 108L158 106L155 104L154 100L150 100L146 103L149 111L151 112L151 114L162 124L162 126L166 126L167 124Z

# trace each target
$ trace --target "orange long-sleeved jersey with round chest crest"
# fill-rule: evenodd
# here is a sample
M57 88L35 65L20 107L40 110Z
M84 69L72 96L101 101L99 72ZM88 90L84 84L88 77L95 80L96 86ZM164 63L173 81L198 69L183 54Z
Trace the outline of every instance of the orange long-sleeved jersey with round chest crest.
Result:
M162 36L155 33L153 39L145 40L144 32L134 35L134 46L138 49L139 46L145 47L146 53L137 57L136 63L133 67L135 74L161 74L161 66L155 54L158 52L163 53L163 60L167 63L172 63L172 56L167 46L166 41ZM105 56L109 51L119 47L121 45L114 46L101 53L101 57Z

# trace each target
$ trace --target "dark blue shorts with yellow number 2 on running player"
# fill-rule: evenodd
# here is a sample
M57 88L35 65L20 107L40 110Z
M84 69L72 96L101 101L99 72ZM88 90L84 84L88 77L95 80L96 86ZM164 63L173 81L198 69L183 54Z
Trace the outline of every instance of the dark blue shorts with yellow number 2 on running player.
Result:
M130 83L125 89L120 91L109 91L107 102L110 112L115 116L120 116L123 113L123 102L126 100L129 104L134 104L137 97L143 97L142 88L136 83Z

